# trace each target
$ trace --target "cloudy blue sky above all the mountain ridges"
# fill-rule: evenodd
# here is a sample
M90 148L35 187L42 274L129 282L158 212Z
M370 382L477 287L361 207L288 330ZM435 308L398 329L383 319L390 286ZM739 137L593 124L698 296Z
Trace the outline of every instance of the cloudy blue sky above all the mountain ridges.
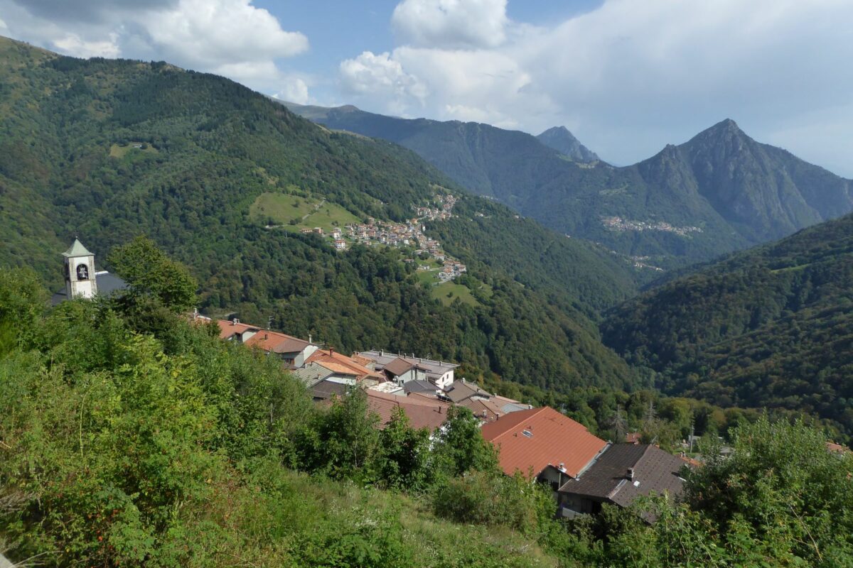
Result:
M0 0L0 35L633 164L733 118L853 177L851 0Z

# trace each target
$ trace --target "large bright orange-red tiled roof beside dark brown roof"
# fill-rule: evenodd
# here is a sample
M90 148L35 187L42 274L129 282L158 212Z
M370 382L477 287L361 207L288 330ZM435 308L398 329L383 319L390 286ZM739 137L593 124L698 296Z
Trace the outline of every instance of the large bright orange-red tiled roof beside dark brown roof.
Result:
M483 438L501 450L501 468L512 475L537 475L548 464L566 469L577 477L607 443L593 436L582 424L553 408L544 406L501 416L482 427ZM529 435L528 435L529 434Z

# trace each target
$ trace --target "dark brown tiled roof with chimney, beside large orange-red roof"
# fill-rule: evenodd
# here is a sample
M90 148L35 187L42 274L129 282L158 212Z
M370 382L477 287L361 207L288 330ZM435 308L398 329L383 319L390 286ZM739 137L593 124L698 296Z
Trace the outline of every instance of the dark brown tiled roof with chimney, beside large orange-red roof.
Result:
M651 444L614 444L578 479L569 479L560 493L592 497L628 507L635 498L650 492L671 496L682 492L679 478L687 464L678 456ZM634 479L628 479L628 469Z

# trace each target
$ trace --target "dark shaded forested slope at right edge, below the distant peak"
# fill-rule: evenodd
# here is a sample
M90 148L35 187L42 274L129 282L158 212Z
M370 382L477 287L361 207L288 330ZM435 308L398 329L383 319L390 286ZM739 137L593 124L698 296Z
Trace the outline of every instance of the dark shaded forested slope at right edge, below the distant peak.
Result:
M853 432L853 215L628 301L603 335L664 372L669 393L815 412Z

